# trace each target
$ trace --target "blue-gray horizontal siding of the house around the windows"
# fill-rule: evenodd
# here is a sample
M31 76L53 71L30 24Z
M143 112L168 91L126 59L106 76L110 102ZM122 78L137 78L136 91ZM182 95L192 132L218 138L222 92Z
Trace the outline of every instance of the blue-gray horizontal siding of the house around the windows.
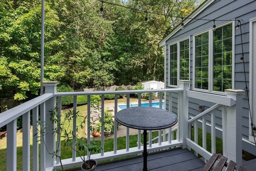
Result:
M196 11L195 11L196 12ZM166 88L170 88L169 86L169 72L170 72L170 65L169 65L169 45L184 38L190 37L190 89L193 89L193 35L203 32L205 30L209 30L215 24L218 26L219 24L224 23L225 21L218 21L218 20L240 20L241 21L241 30L242 30L242 41L241 41L241 34L240 29L234 31L234 85L232 88L234 89L245 89L246 84L248 90L249 87L249 19L256 17L256 1L255 0L215 0L207 6L204 10L202 10L196 17L197 19L207 19L207 20L184 20L184 29L180 29L177 32L172 33L169 39L166 40ZM208 20L215 20L208 21ZM235 21L234 25L238 21ZM244 52L244 64L240 62L240 58L242 56L242 47ZM244 67L245 65L245 67ZM245 68L245 69L244 69ZM246 77L246 83L245 83ZM173 93L172 97L172 111L177 113L177 98L178 96ZM167 104L168 102L168 95L166 97ZM198 105L204 105L204 109L208 109L213 103L209 103L206 101L201 101L198 99L189 99L189 115L194 117L198 115L201 111L198 109ZM168 105L167 105L168 107ZM243 99L243 113L242 113L242 137L244 139L248 139L249 129L251 129L249 125L249 110L248 110L248 98L244 95ZM216 113L216 126L222 127L222 113L219 110L215 111ZM217 136L220 136L220 133L216 133ZM250 149L252 147L249 143L243 142L243 148ZM256 155L256 151L250 151Z

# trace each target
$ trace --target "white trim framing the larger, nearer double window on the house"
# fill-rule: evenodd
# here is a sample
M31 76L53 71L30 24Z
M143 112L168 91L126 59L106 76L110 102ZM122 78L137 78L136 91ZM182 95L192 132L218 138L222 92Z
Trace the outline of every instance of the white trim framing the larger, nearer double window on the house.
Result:
M216 26L216 28L220 28L220 27L223 27L223 26L226 26L228 24L231 24L232 23L232 89L234 89L234 83L235 83L235 80L234 80L234 76L235 76L235 57L234 57L234 54L235 54L235 22L234 20L233 21L228 21L228 22L224 22L222 24L219 24ZM213 28L210 28L208 30L204 30L200 33L197 33L197 34L194 34L193 35L193 80L192 80L192 89L193 90L196 90L196 91L202 91L202 92L207 92L207 93L214 93L214 94L219 94L219 95L226 95L225 92L222 92L222 91L213 91ZM195 76L194 76L194 73L195 73L195 36L198 36L200 34L204 34L206 32L209 32L209 72L208 72L208 79L209 79L209 84L208 84L208 90L206 89L198 89L198 88L195 88Z

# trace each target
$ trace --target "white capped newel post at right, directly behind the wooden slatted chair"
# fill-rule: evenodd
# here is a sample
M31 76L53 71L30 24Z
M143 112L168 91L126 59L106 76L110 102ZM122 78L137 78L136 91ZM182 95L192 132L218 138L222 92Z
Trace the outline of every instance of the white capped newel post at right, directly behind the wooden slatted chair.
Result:
M232 97L236 100L236 105L228 106L226 114L226 123L222 125L222 129L225 129L222 135L225 138L223 141L223 147L226 149L223 151L223 155L237 163L242 165L242 99L245 93L240 89L225 89L228 97ZM226 144L224 144L226 143Z

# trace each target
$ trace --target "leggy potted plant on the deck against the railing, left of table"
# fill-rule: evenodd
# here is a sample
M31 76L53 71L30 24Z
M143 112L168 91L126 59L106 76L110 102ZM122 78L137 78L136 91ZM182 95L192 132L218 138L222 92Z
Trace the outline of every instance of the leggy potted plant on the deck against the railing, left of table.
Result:
M78 134L79 131L83 130L84 126L86 125L87 116L85 117L79 116L78 113L79 111L75 112L73 110L67 110L67 111L64 111L62 115L58 115L57 108L54 109L54 111L52 111L51 113L51 119L50 119L52 123L56 124L56 128L53 130L53 134L60 134L61 136L59 136L59 138L61 138L61 140L64 141L64 145L71 147L74 151L78 153L78 155L83 161L81 165L82 169L88 170L88 171L94 171L97 165L97 161L94 159L90 159L90 155L92 152L99 152L101 149L101 145L96 143L94 141L94 138L88 144L87 139L84 137L84 135L82 135L81 137L79 136ZM64 118L62 118L63 121L60 120L61 116L64 116ZM71 128L74 117L82 117L82 122L76 126L76 133L73 133ZM44 136L42 136L42 135L48 134L45 132L47 125L45 122L41 122L40 120L38 120L37 122L38 122L38 128L37 128L38 133L36 133L34 136L37 135L38 137L40 137L40 139L43 141L46 147L46 151L48 151L48 148L44 141ZM89 127L89 129L91 128L92 126ZM81 130L78 131L78 129L81 129ZM75 140L76 148L73 146L73 140ZM64 168L62 166L61 156L58 155L58 152L59 152L58 150L53 152L48 151L48 153L53 155L53 157L58 157L60 159L60 165L62 167L62 171L64 171ZM87 154L88 159L86 159L87 152L88 152Z

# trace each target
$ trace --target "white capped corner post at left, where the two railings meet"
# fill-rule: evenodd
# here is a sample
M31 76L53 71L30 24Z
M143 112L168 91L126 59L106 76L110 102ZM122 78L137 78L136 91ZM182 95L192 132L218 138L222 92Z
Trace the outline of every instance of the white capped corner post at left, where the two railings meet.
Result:
M53 93L53 94L56 93L57 84L58 82L44 82L44 87L45 87L44 93ZM45 136L45 143L48 151L52 153L53 151L56 151L56 142L55 142L56 138L52 134L52 131L55 128L55 124L51 123L50 114L52 113L51 111L53 111L56 106L56 96L48 99L45 103L45 106L46 106L45 121L47 124L46 131L45 131L47 133ZM45 167L52 167L54 165L54 161L55 159L52 157L52 155L48 154L48 152L46 151Z

